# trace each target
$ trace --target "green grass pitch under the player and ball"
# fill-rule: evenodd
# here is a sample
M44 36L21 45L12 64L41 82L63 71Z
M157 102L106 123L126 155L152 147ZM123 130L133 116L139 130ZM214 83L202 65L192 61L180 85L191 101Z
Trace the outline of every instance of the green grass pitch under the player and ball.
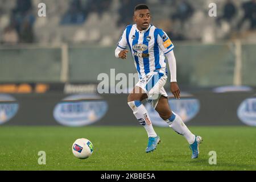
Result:
M189 127L204 138L198 159L187 141L169 128L155 127L162 142L146 154L143 127L0 127L0 170L256 170L255 127ZM87 138L94 146L88 159L77 159L72 144ZM46 165L38 152L46 152ZM216 151L217 164L209 164Z

